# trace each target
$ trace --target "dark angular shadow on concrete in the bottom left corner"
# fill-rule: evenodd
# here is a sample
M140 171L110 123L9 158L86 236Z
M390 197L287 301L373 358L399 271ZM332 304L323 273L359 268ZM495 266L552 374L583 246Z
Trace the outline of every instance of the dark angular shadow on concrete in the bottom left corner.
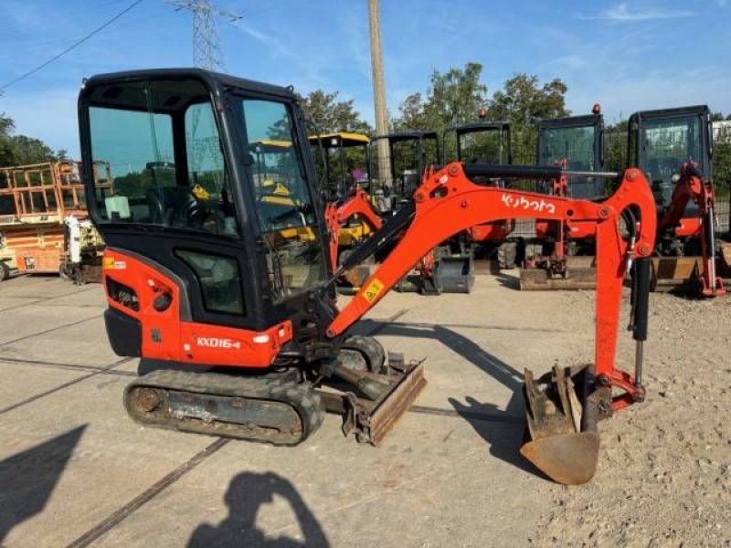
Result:
M0 462L0 543L48 503L86 425Z

